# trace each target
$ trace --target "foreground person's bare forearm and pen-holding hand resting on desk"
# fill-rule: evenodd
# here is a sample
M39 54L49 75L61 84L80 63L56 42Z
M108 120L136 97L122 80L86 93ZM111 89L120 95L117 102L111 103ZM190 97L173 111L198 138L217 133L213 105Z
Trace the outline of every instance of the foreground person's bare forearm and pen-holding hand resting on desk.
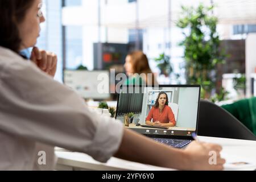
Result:
M210 151L216 151L217 165L209 164ZM192 142L185 150L178 150L125 129L121 146L115 156L181 170L222 170L225 160L220 158L220 151L221 147L216 144L197 142Z

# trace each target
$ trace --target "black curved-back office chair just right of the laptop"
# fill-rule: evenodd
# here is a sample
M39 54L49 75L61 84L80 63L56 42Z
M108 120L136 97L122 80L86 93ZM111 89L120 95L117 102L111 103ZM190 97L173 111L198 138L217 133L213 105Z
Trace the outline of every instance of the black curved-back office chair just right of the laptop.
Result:
M200 101L198 135L206 137L256 140L245 125L212 102Z

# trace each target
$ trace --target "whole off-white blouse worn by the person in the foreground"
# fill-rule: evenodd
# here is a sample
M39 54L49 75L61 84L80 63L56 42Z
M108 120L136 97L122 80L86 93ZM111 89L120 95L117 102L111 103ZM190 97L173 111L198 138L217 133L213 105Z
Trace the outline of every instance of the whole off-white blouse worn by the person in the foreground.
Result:
M67 86L0 47L0 170L52 170L55 146L107 162L122 136L121 122L93 113Z

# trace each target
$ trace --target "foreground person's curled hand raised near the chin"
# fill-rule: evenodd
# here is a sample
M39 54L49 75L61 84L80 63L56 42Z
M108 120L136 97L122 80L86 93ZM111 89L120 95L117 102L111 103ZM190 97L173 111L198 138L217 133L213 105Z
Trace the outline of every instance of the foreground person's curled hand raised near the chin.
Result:
M55 53L39 50L37 47L32 49L31 58L43 72L54 77L57 70L57 56Z

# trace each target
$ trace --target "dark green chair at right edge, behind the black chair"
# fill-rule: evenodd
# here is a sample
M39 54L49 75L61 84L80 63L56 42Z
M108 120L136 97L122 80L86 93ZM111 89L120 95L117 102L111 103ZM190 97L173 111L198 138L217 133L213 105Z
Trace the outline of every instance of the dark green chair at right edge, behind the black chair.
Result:
M221 106L256 135L256 97Z

